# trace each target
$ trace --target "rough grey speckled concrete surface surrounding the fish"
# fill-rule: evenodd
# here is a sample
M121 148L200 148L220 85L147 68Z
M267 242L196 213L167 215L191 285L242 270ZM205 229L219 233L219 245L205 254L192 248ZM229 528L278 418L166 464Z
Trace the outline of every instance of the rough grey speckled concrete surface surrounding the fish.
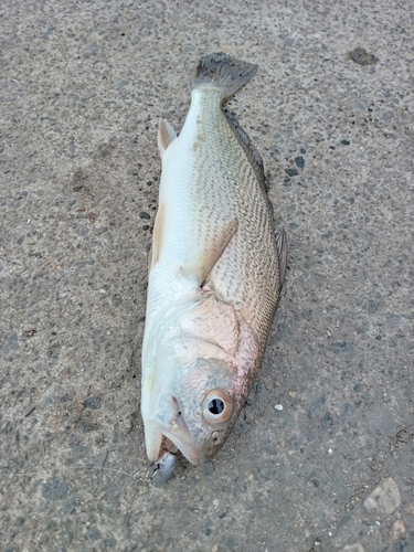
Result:
M414 550L413 6L0 3L2 551ZM259 64L231 109L289 269L226 445L157 488L157 121L213 51Z

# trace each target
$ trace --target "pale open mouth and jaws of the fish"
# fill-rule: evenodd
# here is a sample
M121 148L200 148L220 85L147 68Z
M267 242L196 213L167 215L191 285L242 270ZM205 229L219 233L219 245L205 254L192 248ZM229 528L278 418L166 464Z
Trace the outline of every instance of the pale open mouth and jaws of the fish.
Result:
M148 458L157 461L166 450L166 437L194 466L200 464L200 454L191 437L190 429L176 397L162 401L162 407L146 424L146 446Z

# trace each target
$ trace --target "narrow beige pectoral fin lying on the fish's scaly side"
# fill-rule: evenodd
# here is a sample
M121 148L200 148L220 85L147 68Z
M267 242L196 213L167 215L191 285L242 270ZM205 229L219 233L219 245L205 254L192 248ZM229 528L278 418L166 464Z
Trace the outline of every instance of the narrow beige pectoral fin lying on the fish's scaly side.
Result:
M237 219L233 219L224 224L220 232L217 232L211 241L205 243L198 258L183 267L183 272L195 275L201 286L213 269L215 263L223 255L224 250L237 232Z

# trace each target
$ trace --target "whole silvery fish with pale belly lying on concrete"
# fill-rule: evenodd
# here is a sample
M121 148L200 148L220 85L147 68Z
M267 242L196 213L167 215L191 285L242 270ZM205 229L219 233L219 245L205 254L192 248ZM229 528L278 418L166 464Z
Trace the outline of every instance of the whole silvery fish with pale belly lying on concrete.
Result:
M202 57L180 135L159 120L141 415L149 460L168 465L162 480L174 461L166 443L193 465L225 443L256 379L285 277L286 233L275 232L262 157L224 109L256 71L221 52Z

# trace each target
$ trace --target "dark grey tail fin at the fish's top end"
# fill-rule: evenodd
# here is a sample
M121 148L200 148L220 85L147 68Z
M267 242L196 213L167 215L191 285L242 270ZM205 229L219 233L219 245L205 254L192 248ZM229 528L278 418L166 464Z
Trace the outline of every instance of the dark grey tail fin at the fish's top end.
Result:
M244 86L256 71L257 65L235 60L222 52L205 55L194 68L191 89L210 85L222 91L224 100Z

